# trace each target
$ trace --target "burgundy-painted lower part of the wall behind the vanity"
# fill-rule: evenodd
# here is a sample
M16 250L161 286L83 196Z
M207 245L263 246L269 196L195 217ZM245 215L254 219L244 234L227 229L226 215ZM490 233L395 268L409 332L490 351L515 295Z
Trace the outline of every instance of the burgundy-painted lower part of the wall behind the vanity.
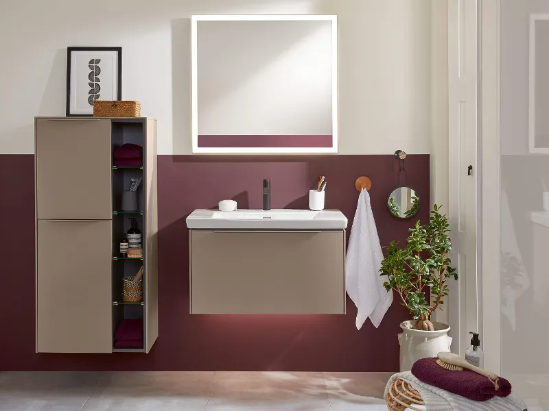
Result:
M307 208L318 175L328 185L326 207L339 208L350 232L360 175L372 180L372 208L382 245L404 240L415 221L386 210L397 182L393 155L160 155L159 338L149 354L34 352L34 156L0 155L0 370L283 370L397 371L396 335L408 313L395 302L375 329L355 328L346 315L191 315L185 218L195 208L235 199L261 208L261 183L271 179L272 208ZM408 184L428 219L429 156L408 155ZM78 171L76 171L78 172Z

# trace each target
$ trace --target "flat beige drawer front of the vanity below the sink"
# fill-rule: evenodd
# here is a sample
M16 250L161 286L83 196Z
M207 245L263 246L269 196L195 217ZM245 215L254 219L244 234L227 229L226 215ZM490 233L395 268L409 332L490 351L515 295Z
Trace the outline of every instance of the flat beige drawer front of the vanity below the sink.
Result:
M344 314L344 231L191 232L194 314Z

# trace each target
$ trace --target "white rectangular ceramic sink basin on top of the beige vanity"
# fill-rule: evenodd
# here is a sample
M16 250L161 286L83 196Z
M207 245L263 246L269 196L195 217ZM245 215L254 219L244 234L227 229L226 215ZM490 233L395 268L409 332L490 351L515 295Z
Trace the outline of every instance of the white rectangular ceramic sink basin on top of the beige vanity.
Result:
M189 229L345 229L340 210L194 210L187 217Z

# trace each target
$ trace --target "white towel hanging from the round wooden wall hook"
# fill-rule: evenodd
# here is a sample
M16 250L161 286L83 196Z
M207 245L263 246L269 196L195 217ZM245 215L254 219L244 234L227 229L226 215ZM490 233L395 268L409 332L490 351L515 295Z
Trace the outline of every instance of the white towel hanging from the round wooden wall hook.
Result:
M345 266L347 294L358 309L358 329L368 317L377 328L393 303L393 291L385 290L384 279L379 275L382 260L382 247L377 236L370 195L362 189L351 227Z

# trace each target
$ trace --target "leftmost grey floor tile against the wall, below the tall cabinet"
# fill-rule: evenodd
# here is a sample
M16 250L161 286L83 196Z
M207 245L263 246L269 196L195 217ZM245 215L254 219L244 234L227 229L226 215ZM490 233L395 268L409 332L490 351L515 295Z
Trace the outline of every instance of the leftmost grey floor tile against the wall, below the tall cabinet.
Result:
M86 399L103 375L84 372L0 373L0 399Z

